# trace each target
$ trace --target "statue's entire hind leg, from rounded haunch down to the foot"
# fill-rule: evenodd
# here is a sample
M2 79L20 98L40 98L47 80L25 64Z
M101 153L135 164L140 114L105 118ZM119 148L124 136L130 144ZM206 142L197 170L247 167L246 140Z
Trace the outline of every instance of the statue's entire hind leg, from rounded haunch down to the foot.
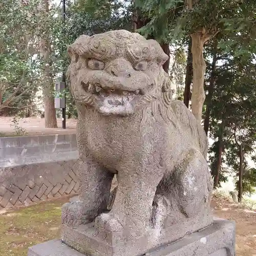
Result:
M208 216L212 179L203 155L191 149L160 181L153 203L153 226L172 226Z

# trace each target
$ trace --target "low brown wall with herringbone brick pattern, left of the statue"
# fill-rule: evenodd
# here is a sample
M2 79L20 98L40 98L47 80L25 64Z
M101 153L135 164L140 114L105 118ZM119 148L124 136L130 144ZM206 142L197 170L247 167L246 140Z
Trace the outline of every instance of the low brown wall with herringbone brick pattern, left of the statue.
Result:
M0 167L0 209L76 194L78 160Z

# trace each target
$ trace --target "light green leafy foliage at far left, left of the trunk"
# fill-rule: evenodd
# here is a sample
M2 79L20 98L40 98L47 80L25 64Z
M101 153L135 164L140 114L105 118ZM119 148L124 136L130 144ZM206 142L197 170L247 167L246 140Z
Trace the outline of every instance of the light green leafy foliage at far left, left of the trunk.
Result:
M37 37L38 2L0 1L0 109L35 92L38 69L33 56ZM9 102L10 101L10 102ZM24 102L19 101L18 107Z

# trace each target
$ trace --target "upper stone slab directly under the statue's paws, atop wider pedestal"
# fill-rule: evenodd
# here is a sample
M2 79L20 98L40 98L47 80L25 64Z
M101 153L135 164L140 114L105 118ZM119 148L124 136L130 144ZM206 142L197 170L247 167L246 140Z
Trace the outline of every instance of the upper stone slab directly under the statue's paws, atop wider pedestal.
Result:
M144 236L127 236L126 230L110 231L97 223L72 228L61 226L61 239L66 245L87 256L138 256L163 244L169 244L212 224L211 214L184 218L183 222L167 223L164 229L148 229Z

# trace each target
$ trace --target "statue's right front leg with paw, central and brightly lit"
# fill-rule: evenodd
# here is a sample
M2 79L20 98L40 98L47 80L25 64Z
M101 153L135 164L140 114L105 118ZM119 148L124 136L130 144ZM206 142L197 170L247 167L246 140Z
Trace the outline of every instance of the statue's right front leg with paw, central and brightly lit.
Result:
M101 214L95 222L106 230L140 237L150 227L152 203L164 170L150 165L131 167L127 165L118 172L114 205L108 214Z

